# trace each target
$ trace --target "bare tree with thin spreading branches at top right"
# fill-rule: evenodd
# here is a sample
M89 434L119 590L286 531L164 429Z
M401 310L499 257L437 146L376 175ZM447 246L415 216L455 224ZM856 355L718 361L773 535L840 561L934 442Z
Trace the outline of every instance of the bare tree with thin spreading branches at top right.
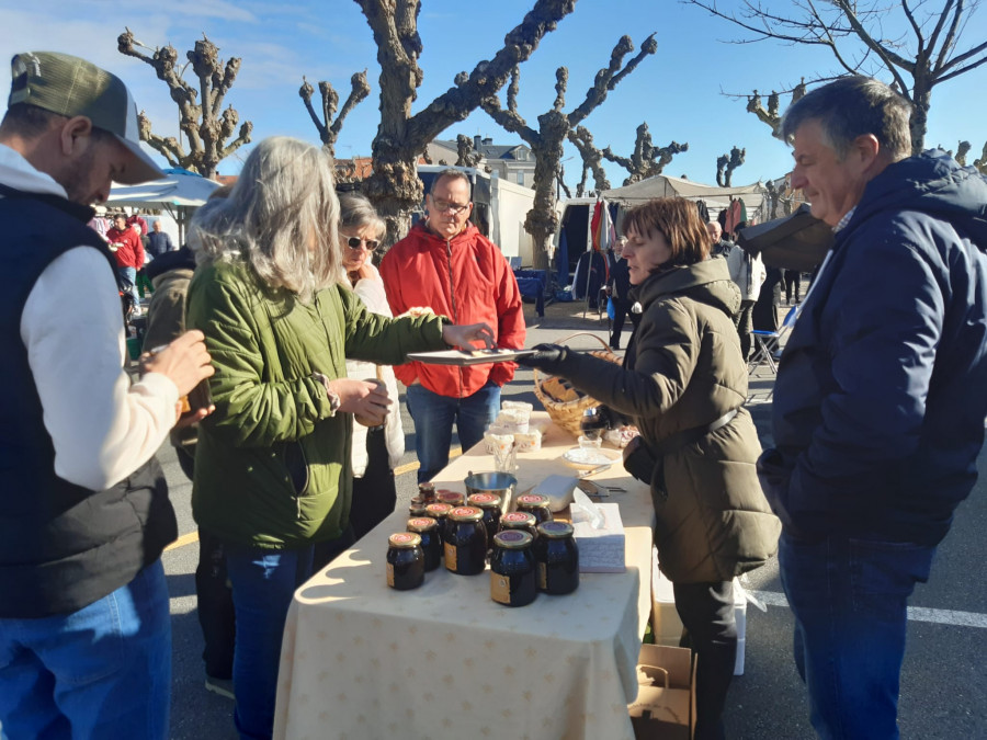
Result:
M940 0L939 10L919 1L888 3L883 0L794 0L778 3L772 10L760 0L742 0L740 10L721 11L708 0L685 0L711 14L744 29L749 37L737 43L781 41L828 48L848 73L872 77L890 75L898 91L914 105L911 151L924 149L926 128L932 102L932 89L987 62L987 41L974 38L974 45L960 48L960 38L979 0ZM892 8L899 19L889 18ZM900 20L909 32L886 38L884 29Z

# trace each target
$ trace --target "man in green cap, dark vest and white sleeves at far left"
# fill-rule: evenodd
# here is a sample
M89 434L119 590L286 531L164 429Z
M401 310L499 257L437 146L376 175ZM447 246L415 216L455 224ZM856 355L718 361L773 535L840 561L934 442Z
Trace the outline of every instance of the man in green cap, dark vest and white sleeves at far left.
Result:
M0 736L168 736L154 458L212 375L188 332L124 371L115 264L86 225L111 181L162 177L120 79L64 54L12 60L0 122ZM52 300L58 296L58 300ZM206 411L192 414L202 419Z

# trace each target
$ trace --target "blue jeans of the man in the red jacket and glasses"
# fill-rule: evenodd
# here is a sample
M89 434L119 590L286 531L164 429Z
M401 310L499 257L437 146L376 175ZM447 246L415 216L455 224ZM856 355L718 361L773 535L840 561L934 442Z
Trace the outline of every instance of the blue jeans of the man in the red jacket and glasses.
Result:
M463 452L481 442L488 424L500 410L500 386L487 383L466 398L432 392L420 383L408 386L408 413L415 422L415 451L418 453L418 482L431 480L449 465L452 425L456 422Z

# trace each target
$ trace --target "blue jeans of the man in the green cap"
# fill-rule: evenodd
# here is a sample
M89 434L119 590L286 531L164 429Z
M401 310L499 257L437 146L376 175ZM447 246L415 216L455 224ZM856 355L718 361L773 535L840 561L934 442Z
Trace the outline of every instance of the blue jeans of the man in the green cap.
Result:
M0 619L4 740L164 740L170 703L171 621L160 560L78 612Z

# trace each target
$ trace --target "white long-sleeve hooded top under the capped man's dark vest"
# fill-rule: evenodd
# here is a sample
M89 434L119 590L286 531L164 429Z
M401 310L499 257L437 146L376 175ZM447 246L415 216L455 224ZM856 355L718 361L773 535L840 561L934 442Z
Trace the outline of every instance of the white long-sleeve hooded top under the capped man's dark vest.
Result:
M55 180L3 145L0 182L66 197ZM178 388L158 373L131 383L120 295L106 258L80 246L55 259L31 289L20 329L55 447L55 473L102 490L150 459L174 424Z

